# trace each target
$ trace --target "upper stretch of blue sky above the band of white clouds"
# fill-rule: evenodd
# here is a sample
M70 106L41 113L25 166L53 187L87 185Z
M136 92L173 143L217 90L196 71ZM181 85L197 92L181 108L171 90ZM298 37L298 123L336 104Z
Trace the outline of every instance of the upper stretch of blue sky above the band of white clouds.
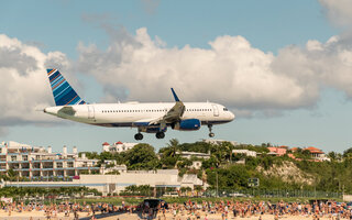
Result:
M312 38L326 41L339 33L314 0L156 1L152 12L146 9L148 3L143 2L4 1L0 9L1 31L70 57L77 56L78 42L108 44L105 32L84 21L85 15L123 25L131 33L146 26L151 36L160 36L170 47L207 47L219 35L242 35L253 46L275 53L289 44L305 44Z

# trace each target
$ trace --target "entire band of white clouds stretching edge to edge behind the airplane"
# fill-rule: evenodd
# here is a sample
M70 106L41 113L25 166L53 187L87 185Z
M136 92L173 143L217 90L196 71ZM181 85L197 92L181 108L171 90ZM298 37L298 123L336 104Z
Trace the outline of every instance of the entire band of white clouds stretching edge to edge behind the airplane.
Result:
M273 55L242 36L218 36L209 42L210 48L169 48L145 28L135 35L125 29L102 28L111 36L109 47L102 51L79 43L75 66L62 52L44 54L0 35L0 129L54 119L34 111L53 105L46 67L62 69L74 86L80 86L73 77L76 70L92 75L103 86L106 100L172 101L169 88L174 87L185 101L224 103L244 117L310 108L324 87L352 98L349 34L327 42L311 40L304 47L290 45Z

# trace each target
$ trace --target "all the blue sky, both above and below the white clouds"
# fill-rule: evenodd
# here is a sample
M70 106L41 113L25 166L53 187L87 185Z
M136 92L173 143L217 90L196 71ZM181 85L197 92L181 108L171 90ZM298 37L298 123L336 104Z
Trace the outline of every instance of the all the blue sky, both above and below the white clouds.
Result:
M86 48L88 45L96 45L100 52L105 52L116 43L113 41L119 41L119 37L113 38L106 32L102 28L105 25L114 30L125 30L132 36L138 35L136 30L146 28L153 41L161 38L166 44L166 52L174 47L182 51L186 45L191 48L211 50L209 42L215 42L217 37L239 35L251 44L251 48L276 57L283 48L305 47L310 40L324 43L330 37L343 33L344 29L333 25L331 18L327 16L328 10L330 8L324 8L320 1L315 0L1 1L0 34L18 38L23 44L34 45L44 54L61 52L73 64L79 63L78 59L82 57L79 44ZM91 102L105 99L105 88L108 84L99 76L86 75L81 68L69 74L81 81L77 90L85 99ZM292 107L286 107L286 103L280 106L275 101L268 101L266 106L263 103L265 108L277 105L268 108L273 113L263 113L260 107L253 110L253 103L241 102L240 110L253 110L251 117L242 116L237 112L238 102L229 101L238 118L230 124L215 128L216 138L252 144L270 142L300 147L312 145L327 152L342 152L352 146L349 132L352 123L352 102L346 91L348 87L341 88L340 84L326 85L329 84L319 85L319 96L307 105L304 101ZM169 91L165 90L163 97L169 97L172 100L168 94ZM186 91L179 94L185 99L189 98ZM233 94L230 92L228 96ZM155 96L151 96L148 100L143 97L141 99L153 101L154 98L158 101ZM106 129L74 122L43 125L35 121L19 121L21 123L18 125L6 124L7 132L1 136L2 140L52 145L57 151L63 145L76 145L79 151L99 152L102 142L133 142L135 133L135 129ZM180 142L195 142L207 139L207 134L208 130L202 128L197 132L170 131L165 140L156 140L153 134L146 134L143 141L161 147L172 138Z

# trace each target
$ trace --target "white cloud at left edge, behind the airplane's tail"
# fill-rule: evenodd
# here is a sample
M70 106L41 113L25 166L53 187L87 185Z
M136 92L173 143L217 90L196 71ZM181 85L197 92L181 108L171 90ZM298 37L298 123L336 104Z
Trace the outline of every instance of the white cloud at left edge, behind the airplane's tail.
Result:
M0 133L4 127L53 120L37 111L54 102L46 77L46 67L52 64L64 69L68 66L61 52L44 54L35 46L0 35Z

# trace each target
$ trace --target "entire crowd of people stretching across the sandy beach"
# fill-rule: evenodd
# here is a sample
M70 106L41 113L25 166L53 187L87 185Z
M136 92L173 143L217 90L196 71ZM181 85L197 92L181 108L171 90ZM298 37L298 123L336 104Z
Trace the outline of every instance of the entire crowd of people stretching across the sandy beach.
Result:
M188 200L184 204L166 204L160 200L157 206L151 206L148 201L144 201L140 206L122 205L114 206L111 204L72 204L62 202L58 205L43 205L11 202L2 204L1 209L8 212L31 212L43 211L47 219L55 219L59 213L70 219L90 218L96 219L97 215L108 216L118 213L138 213L140 219L157 219L157 220L210 220L213 216L220 216L222 220L228 219L258 219L264 215L272 216L274 220L285 217L302 217L319 220L324 217L329 220L352 219L352 207L348 204L336 201L310 201L310 202L270 202L270 201L202 201L200 204ZM30 215L29 215L30 216Z

